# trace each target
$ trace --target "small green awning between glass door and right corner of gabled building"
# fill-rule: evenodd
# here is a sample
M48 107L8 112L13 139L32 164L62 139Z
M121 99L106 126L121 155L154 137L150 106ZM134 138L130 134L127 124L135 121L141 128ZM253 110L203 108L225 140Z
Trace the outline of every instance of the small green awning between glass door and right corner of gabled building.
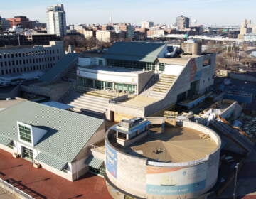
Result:
M39 153L38 156L35 158L37 161L46 163L48 166L51 166L53 168L57 168L58 170L63 169L67 162L62 161L58 158L55 158L53 156L50 156L48 154L45 154L43 152Z

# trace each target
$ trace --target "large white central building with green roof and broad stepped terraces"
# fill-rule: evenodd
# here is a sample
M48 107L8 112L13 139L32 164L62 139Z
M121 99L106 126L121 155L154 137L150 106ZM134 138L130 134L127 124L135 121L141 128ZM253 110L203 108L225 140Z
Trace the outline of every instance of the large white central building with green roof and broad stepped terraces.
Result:
M166 43L116 42L105 53L78 60L71 105L107 119L161 114L186 99L206 98L213 85L215 54L183 55Z

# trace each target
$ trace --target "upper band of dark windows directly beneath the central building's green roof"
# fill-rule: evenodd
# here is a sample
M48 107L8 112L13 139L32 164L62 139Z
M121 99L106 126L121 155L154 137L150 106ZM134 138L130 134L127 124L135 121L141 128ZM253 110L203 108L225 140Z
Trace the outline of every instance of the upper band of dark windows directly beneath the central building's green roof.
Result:
M144 70L155 70L155 63L127 61L127 60L107 60L107 65L125 67L125 68L139 68Z

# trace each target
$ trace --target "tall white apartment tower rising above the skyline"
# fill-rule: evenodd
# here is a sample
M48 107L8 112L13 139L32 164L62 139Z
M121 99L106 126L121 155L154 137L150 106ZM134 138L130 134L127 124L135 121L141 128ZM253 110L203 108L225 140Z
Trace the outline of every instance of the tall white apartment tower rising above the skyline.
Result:
M50 6L46 10L47 33L63 37L67 31L65 11L63 4Z

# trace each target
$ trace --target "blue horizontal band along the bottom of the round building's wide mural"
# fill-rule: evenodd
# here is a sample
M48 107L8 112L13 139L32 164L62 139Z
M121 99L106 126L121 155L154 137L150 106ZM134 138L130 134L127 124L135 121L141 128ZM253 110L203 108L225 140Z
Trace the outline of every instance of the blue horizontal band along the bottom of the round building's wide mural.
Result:
M206 180L188 185L146 185L146 193L153 195L183 195L202 190L206 187Z

